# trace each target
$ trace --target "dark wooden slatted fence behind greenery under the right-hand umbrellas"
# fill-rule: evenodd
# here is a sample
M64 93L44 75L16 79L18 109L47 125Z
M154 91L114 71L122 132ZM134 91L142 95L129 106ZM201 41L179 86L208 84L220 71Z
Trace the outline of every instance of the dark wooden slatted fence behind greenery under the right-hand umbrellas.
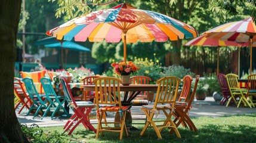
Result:
M219 49L219 73L236 73L232 70L233 64L238 64L233 58L237 57L234 48ZM184 48L181 50L181 65L190 69L193 73L217 73L217 47Z

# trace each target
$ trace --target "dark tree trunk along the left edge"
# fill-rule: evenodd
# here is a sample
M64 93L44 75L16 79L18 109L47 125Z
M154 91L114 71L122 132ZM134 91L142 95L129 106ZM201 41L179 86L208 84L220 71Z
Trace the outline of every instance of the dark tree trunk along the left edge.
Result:
M28 142L14 111L14 62L21 0L0 2L0 142Z

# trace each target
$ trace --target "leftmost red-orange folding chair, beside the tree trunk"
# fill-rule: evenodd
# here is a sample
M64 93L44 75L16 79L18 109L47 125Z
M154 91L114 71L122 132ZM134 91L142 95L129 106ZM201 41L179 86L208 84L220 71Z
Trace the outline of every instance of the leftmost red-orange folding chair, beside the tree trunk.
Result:
M15 104L14 110L16 110L20 104L22 104L22 106L18 110L18 114L21 113L24 107L29 110L30 105L32 105L32 101L24 90L20 79L18 79L17 77L14 77L14 94L17 97L16 100L18 99L17 103Z

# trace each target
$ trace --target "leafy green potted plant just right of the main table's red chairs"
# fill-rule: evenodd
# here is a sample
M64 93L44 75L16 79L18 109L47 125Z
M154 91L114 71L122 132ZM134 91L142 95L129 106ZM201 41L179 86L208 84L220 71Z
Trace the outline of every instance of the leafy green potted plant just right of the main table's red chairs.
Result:
M208 84L205 84L202 82L202 80L199 80L198 87L196 88L196 100L205 100L208 88Z

